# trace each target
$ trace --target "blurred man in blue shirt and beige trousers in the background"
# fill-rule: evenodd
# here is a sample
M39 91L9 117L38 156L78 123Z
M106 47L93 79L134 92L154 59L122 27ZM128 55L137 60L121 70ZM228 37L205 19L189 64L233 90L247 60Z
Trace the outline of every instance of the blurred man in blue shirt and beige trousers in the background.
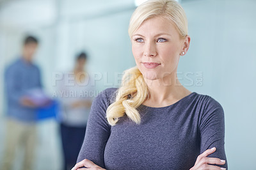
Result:
M17 146L24 148L24 162L20 169L33 169L36 146L36 105L26 95L29 90L42 88L40 69L33 63L38 40L27 36L22 55L6 68L4 86L7 99L6 145L0 169L12 169Z

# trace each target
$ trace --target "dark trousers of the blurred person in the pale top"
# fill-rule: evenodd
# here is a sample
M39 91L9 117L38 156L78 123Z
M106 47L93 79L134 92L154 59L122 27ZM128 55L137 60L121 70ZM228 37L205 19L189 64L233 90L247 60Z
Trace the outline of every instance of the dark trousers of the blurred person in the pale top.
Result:
M65 170L75 166L76 160L83 144L86 127L70 127L61 123L61 141L64 153Z

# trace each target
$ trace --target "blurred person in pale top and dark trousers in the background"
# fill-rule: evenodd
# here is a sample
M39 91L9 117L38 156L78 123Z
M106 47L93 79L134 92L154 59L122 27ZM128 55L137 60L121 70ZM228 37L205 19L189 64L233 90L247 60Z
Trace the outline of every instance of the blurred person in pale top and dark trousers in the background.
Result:
M63 75L58 82L61 102L60 131L64 153L63 169L71 169L83 144L86 123L92 105L94 86L84 69L87 55L82 52L76 58L74 70Z

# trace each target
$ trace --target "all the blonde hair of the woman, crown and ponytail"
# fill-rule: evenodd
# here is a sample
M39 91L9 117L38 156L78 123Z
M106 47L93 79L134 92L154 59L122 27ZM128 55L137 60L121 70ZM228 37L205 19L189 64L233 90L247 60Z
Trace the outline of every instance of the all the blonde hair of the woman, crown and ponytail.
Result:
M170 20L180 36L188 35L188 20L183 8L174 0L149 0L136 8L132 14L128 33L131 37L141 24L152 17L162 16ZM141 118L137 108L150 95L147 84L137 66L125 70L122 84L116 91L115 101L109 105L106 117L109 125L116 125L117 121L125 114L127 117L140 124Z

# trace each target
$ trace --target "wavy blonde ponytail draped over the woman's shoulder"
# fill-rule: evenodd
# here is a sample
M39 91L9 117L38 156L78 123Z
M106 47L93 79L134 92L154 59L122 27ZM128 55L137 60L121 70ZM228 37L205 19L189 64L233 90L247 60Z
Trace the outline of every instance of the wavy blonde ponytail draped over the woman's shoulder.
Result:
M122 85L116 92L115 102L109 105L106 111L108 123L116 125L119 118L124 116L140 124L140 113L137 111L145 99L148 97L147 84L137 66L125 70L122 77Z

